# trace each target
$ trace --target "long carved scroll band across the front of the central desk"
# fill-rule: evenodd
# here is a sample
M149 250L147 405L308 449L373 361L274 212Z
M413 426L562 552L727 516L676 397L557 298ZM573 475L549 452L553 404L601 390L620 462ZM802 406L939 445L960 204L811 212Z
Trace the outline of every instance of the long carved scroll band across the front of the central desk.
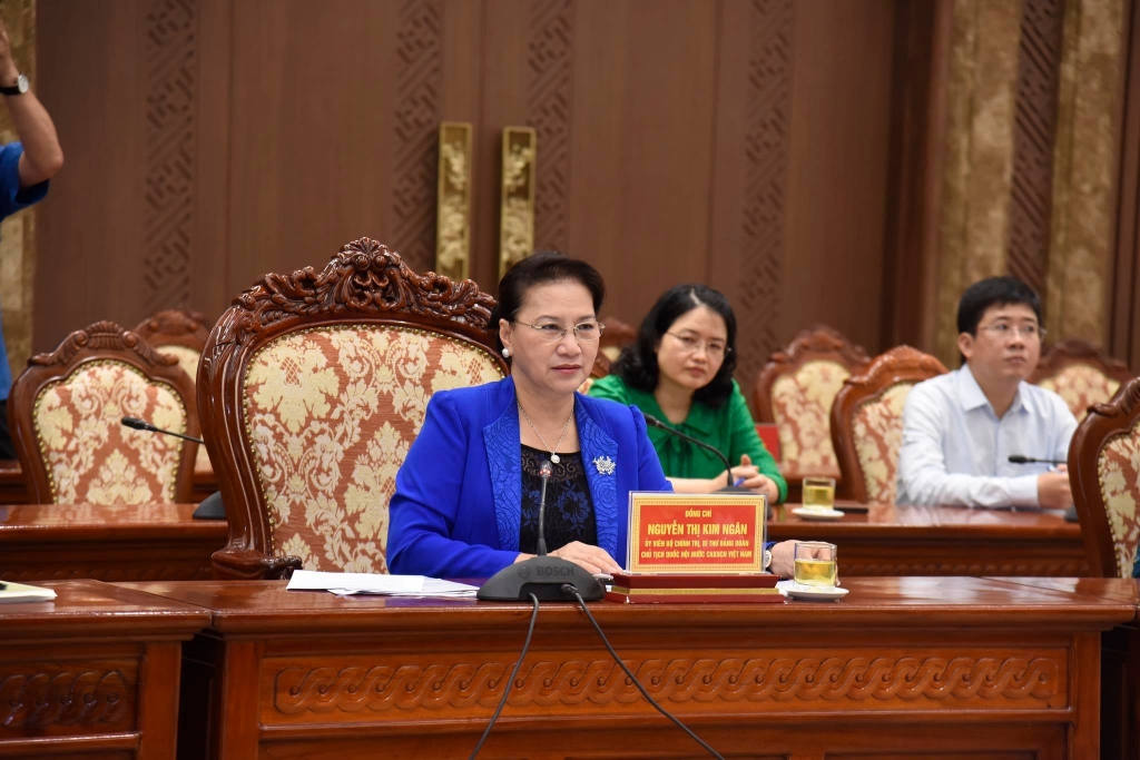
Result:
M847 700L919 703L980 697L1044 704L1065 685L1050 657L854 656L645 660L626 664L659 701L762 702ZM378 664L370 668L285 668L277 672L274 706L302 712L383 712L494 708L513 662ZM605 706L643 697L611 660L523 663L507 702ZM928 704L918 705L923 709Z

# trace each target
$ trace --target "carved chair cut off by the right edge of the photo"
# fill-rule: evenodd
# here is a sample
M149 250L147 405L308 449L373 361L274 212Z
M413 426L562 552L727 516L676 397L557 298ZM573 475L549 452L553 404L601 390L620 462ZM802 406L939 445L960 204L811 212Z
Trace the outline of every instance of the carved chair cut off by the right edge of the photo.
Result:
M1089 409L1068 466L1092 574L1131 578L1140 545L1140 378Z

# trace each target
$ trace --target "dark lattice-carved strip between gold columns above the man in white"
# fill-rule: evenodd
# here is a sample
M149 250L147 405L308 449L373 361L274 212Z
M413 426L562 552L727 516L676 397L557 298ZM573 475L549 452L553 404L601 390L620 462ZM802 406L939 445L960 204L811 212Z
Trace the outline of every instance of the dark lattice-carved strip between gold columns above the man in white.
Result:
M1064 0L1024 0L1013 111L1009 272L1045 292Z

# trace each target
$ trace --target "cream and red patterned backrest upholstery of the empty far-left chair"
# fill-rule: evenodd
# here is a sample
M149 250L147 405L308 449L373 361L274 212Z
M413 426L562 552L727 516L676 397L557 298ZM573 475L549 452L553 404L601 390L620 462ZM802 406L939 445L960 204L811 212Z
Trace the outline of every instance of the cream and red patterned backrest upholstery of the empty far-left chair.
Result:
M187 432L179 393L125 362L88 361L40 390L33 425L54 502L176 500L181 442L123 427L123 416Z

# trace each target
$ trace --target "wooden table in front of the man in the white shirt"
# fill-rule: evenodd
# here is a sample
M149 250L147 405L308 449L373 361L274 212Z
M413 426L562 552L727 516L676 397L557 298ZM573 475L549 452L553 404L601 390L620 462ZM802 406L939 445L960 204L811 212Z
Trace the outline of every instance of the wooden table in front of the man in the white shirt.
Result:
M773 509L768 540L836 544L840 577L1078 578L1089 572L1081 526L1056 510L871 505L841 521L819 522L793 515L798 506Z

